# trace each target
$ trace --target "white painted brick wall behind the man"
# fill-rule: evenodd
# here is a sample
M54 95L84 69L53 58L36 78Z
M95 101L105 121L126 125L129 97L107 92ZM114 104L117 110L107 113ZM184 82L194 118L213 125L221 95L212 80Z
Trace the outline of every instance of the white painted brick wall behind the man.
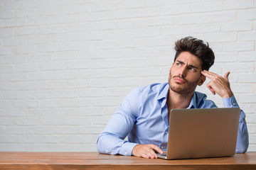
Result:
M122 98L167 81L188 35L231 72L256 151L255 0L1 0L0 151L96 151Z

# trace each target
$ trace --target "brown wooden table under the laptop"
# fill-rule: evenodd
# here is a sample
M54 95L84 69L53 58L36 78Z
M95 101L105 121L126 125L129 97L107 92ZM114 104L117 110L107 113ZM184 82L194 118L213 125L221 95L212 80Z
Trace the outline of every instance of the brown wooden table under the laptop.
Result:
M144 159L96 152L0 152L0 169L256 169L256 152L204 159Z

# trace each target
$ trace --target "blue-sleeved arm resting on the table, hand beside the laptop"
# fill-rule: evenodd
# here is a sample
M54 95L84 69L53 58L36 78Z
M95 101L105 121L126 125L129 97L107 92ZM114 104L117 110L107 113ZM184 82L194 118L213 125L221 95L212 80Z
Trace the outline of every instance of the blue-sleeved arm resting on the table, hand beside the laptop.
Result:
M139 145L124 140L134 127L134 123L140 114L139 106L142 104L140 96L140 89L134 89L124 98L117 112L112 115L105 130L97 140L98 152L103 154L133 154L136 157L144 158L157 158L156 152L163 153L156 145Z

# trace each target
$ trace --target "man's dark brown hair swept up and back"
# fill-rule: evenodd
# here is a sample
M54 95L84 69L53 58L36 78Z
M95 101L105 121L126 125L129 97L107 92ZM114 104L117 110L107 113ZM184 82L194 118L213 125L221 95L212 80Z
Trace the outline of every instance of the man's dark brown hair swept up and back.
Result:
M210 49L208 42L203 42L203 40L198 40L193 37L182 38L175 42L176 55L174 57L174 62L176 61L178 55L181 52L190 52L192 55L196 55L202 61L202 69L209 70L214 63L214 53Z

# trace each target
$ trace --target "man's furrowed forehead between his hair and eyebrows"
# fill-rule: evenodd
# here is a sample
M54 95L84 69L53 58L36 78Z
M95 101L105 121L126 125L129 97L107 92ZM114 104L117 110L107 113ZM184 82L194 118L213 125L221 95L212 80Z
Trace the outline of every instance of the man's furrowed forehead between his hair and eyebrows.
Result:
M192 55L190 52L181 52L180 55L176 58L176 62L181 61L188 65L193 65L198 68L202 67L202 61L196 57L196 55Z

